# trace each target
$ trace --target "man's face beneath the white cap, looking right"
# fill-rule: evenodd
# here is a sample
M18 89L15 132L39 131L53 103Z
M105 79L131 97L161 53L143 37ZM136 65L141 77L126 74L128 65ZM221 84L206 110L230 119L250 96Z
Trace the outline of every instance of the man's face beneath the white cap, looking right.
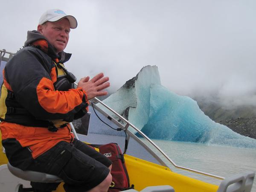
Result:
M67 18L38 25L38 31L47 38L57 53L63 51L69 40L70 23Z

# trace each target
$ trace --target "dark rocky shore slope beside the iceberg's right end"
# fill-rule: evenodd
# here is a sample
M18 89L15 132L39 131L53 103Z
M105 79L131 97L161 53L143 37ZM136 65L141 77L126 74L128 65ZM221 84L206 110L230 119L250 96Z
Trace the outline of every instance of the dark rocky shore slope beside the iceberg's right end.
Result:
M238 134L256 139L256 116L239 117L236 119L220 120L218 123L226 125Z

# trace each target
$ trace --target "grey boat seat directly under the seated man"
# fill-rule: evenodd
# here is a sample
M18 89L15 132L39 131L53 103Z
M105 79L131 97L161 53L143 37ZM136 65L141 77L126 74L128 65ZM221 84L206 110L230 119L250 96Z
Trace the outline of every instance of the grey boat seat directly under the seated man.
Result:
M56 175L50 175L42 172L35 171L23 171L17 167L12 166L9 162L7 164L9 171L23 180L29 180L32 182L40 182L40 183L58 183L63 180Z

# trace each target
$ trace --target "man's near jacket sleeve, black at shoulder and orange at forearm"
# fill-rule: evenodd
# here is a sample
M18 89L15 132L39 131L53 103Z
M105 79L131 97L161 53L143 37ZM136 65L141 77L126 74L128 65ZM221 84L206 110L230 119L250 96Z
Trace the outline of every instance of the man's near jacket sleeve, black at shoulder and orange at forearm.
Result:
M72 121L87 112L87 95L82 89L58 91L55 64L44 52L25 47L6 65L5 85L16 101L35 119Z

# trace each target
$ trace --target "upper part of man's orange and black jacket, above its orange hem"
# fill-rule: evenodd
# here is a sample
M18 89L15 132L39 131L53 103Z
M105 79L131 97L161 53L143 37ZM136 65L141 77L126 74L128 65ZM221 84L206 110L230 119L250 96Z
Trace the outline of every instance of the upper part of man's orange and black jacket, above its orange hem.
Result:
M71 54L56 54L37 31L29 31L23 49L7 62L3 70L0 119L29 127L56 131L87 113L87 95L73 88L57 67ZM62 71L64 75L59 74ZM51 130L50 130L51 131Z

